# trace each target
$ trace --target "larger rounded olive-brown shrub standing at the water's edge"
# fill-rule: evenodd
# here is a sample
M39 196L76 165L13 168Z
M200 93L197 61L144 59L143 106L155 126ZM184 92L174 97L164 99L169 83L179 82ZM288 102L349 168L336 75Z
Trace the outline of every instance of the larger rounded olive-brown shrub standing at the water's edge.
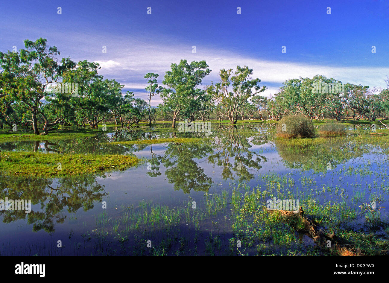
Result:
M304 115L283 117L277 124L277 136L281 138L314 138L312 121Z

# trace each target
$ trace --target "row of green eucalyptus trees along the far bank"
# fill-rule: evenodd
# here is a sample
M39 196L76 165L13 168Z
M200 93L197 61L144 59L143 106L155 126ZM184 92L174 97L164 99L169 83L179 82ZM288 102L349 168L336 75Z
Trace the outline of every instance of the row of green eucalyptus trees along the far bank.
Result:
M343 84L316 75L286 80L278 93L262 96L266 86L251 78L248 66L219 71L219 81L200 88L211 70L206 61L180 60L166 71L162 85L159 75L144 76L147 100L135 98L116 80L98 74L98 63L59 59L55 46L39 38L25 40L19 52L0 52L0 128L5 125L47 134L63 126L112 121L130 127L141 121L218 120L236 124L238 119L279 121L286 115L302 114L312 119L387 119L389 79L386 89ZM64 87L65 86L65 87ZM151 107L159 95L162 103Z

